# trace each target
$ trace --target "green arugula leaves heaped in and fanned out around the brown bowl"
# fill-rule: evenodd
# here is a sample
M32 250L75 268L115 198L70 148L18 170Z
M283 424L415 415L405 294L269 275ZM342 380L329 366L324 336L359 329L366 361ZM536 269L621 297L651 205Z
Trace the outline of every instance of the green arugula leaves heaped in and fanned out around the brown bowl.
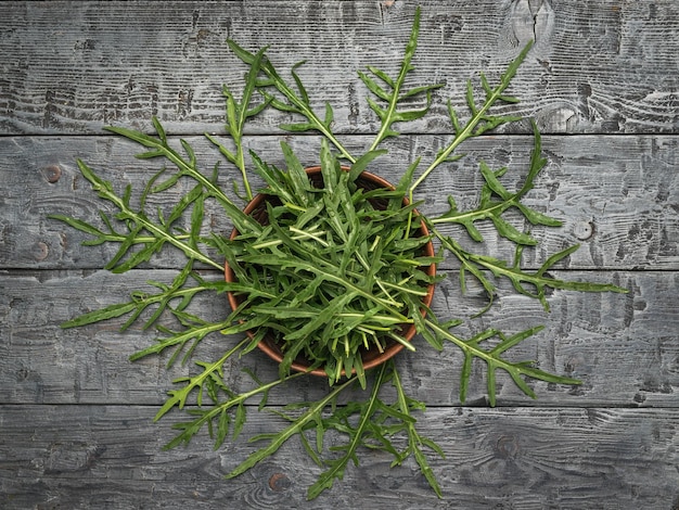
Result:
M533 362L515 362L505 357L509 349L540 331L541 327L511 335L490 328L472 337L463 337L456 333L456 327L462 322L460 318L437 317L426 299L428 288L441 278L427 268L444 255L458 260L463 294L467 279L475 280L487 294L487 306L479 314L492 306L499 279L508 279L517 293L539 299L546 310L548 290L625 292L612 284L551 277L548 270L577 250L577 245L551 255L535 271L522 268L524 247L535 246L539 241L515 227L505 213L509 209L518 212L529 225L561 225L522 202L547 163L541 155L540 135L535 124L529 167L516 191L508 190L501 182L505 168L494 170L482 163L479 170L484 182L473 208L460 211L449 196L448 211L432 217L417 201L418 187L432 171L461 157L457 153L461 143L518 120L513 116L495 115L491 110L496 104L517 102L505 91L530 44L509 64L496 85L482 74L481 94L476 93L471 81L467 82L469 115L464 119L448 102L452 136L426 167L418 157L403 165L402 176L394 186L360 184L367 168L386 152L383 142L399 136L395 125L424 117L440 87L438 84L407 87L406 78L413 71L411 61L419 28L418 9L397 76L372 66L359 72L371 94L367 98L368 104L380 122L373 142L361 154L349 151L333 132L330 104L322 114L312 109L295 72L296 66L291 69L291 78L285 78L264 49L253 53L228 41L233 53L248 66L248 72L240 99L231 90L223 89L227 140L213 135L206 137L235 168L236 175L240 174L242 193L231 193L233 197L230 197L219 184L218 166L212 173L201 170L193 148L184 140L180 141L180 148L172 146L155 118L155 136L123 127L106 128L142 145L144 152L138 155L139 158L164 158L170 164L171 169L164 167L150 177L138 204L132 203L129 187L123 193L116 193L111 182L78 161L78 167L92 189L111 202L117 213L110 217L100 212L102 224L99 226L64 215L52 217L90 234L92 239L85 244L119 245L105 269L125 272L168 248L183 253L185 265L171 282L151 282L157 289L156 293L134 292L128 302L87 313L63 327L127 317L123 324L123 329L127 329L143 321L144 328L156 327L159 337L153 345L132 354L131 359L174 349L168 366L179 358L183 362L192 359L196 345L210 334L228 334L235 339L215 359L195 361L197 373L175 381L178 387L168 392L155 419L175 408L183 410L188 419L175 423L178 434L166 445L167 448L188 444L204 428L214 438L215 448L228 439L235 441L244 428L248 401L258 398L261 410L272 388L300 377L311 377L308 373L320 370L328 380L328 383L321 383L328 386L326 394L318 400L291 403L284 408L281 416L286 424L278 432L254 437L253 441L259 441L264 446L228 476L247 471L273 455L289 438L298 436L305 450L322 470L318 481L308 489L309 498L332 487L335 479L342 479L349 461L358 462L360 450L366 447L389 452L394 456L393 464L400 464L413 456L440 497L441 489L427 452L444 454L436 443L419 433L414 418L414 413L424 410L424 404L407 395L400 373L402 369L394 359L368 371L363 362L366 352L382 352L388 345L397 344L410 356L413 355L410 352L427 345L437 350L447 344L456 345L463 357L460 371L462 403L474 359L487 366L487 393L491 406L496 404L498 370L507 372L530 397L535 395L526 379L578 384L574 379L543 371ZM425 106L408 109L406 105L418 97L425 100ZM284 142L281 144L284 169L260 158L256 148L247 151L245 125L266 109L300 119L281 125L285 131L313 131L322 136L318 162L320 181L313 182L309 178L299 158ZM259 199L253 193L252 173L265 183ZM188 188L187 182L191 183ZM181 189L188 191L169 211L149 212L149 197ZM253 200L259 201L258 212L244 211L243 203ZM232 232L210 229L205 215L207 202L221 207L233 226ZM184 220L188 220L188 228L182 226ZM445 229L451 224L461 226L463 232L481 244L483 238L477 228L481 221L492 225L500 237L515 246L513 262L465 248L459 238ZM423 251L432 241L438 247L437 254ZM225 262L227 275L231 272L228 281L205 277L205 268L221 273ZM191 307L192 299L198 294L223 292L233 298L233 309L225 309L218 321L206 320ZM168 318L179 326L174 329L165 326L164 320ZM418 342L403 335L405 328L413 328L426 344L415 345ZM223 377L226 364L238 361L241 356L261 346L269 336L272 337L269 342L278 346L281 354L279 378L265 382L248 370L255 381L254 387L243 392L231 388ZM494 341L488 342L490 340ZM302 368L296 366L300 356L306 360ZM343 403L340 396L356 384L360 385L363 398ZM388 385L395 392L383 392ZM386 398L385 393L390 397ZM346 439L344 444L335 445L332 451L323 442L331 431ZM311 436L316 439L311 441ZM403 438L406 447L399 448Z

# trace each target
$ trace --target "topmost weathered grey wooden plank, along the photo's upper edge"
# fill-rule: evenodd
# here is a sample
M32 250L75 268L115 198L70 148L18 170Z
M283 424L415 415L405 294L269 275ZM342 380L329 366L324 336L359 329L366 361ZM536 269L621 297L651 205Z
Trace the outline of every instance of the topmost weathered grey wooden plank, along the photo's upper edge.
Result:
M464 80L497 77L518 47L537 44L508 111L553 132L677 132L679 5L675 0L515 2L426 0L413 84L441 81L437 98L463 106ZM396 73L414 4L287 0L2 2L0 131L93 133L102 124L148 128L152 115L180 132L221 126L220 87L243 67L227 38L271 46L281 69L300 60L315 106L335 105L342 132L370 132L355 69ZM321 97L317 91L323 91ZM253 132L280 120L262 115ZM409 129L450 131L445 107Z

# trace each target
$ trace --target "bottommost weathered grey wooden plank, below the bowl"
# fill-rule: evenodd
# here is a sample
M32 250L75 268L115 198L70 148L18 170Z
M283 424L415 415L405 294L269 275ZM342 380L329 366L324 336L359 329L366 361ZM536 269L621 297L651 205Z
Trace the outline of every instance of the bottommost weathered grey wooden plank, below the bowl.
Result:
M366 452L359 468L313 501L319 468L291 441L253 471L222 475L270 431L276 418L252 409L244 438L213 451L201 436L161 451L171 431L155 408L0 407L0 505L23 508L616 508L679 503L676 409L431 409L421 432L446 459L432 458L437 500L410 460Z

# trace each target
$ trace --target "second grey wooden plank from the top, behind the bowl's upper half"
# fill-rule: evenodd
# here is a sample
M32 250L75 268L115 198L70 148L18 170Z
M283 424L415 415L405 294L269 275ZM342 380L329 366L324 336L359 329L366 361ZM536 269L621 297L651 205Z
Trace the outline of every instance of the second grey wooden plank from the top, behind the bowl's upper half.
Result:
M206 173L220 160L206 140L188 139ZM396 182L406 162L415 156L430 161L446 140L438 136L414 136L389 143L389 153L375 161L373 171ZM318 162L315 137L292 137L286 141L305 165ZM350 136L346 145L357 153L370 145L369 137ZM248 144L261 157L284 166L278 137L253 137ZM178 141L177 141L178 143ZM542 239L540 250L526 250L524 263L538 266L566 245L582 243L568 259L568 267L581 269L679 268L679 140L674 137L545 137L547 168L526 203L564 221L559 229L533 228ZM533 149L531 137L487 137L462 148L470 156L440 168L419 189L421 207L430 216L444 213L452 194L460 208L473 207L483 179L477 169L483 160L494 168L508 166L503 178L516 189L525 176ZM82 247L87 239L74 229L47 218L61 213L103 224L98 211L108 204L99 200L75 164L84 158L111 180L118 190L131 183L143 189L161 162L140 162L140 148L113 137L5 138L0 139L0 266L41 269L98 269L111 259L116 246ZM235 178L222 164L220 182L227 192ZM183 189L180 189L182 191ZM185 190L184 190L185 192ZM174 204L176 193L149 201L155 207ZM214 231L229 232L223 213L207 205L206 218ZM516 224L524 228L522 222ZM498 240L494 229L481 226L488 253L513 256L513 248ZM462 234L462 239L466 234ZM476 248L478 250L478 248ZM181 254L166 251L154 267L177 267ZM452 262L450 262L452 264Z

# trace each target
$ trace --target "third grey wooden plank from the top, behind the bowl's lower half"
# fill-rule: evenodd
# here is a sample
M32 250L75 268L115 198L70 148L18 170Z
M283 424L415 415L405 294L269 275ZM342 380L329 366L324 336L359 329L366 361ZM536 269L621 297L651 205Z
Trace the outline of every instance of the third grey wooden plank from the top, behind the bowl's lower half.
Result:
M175 273L136 270L123 276L105 271L11 271L0 276L0 403L44 404L159 404L171 381L193 367L164 366L169 354L130 362L128 356L152 345L156 333L132 328L118 332L125 319L62 330L59 324L77 315L129 298L144 281L169 283ZM613 282L630 290L623 294L554 292L551 313L528 297L501 290L497 306L479 319L469 320L460 335L498 328L515 333L538 324L546 330L513 350L512 359L535 359L540 367L580 379L580 386L536 383L538 400L516 390L498 374L499 405L521 406L665 406L679 407L679 309L675 295L679 276L663 271L556 271L560 278ZM220 278L220 275L206 275ZM473 292L473 289L472 289ZM469 319L485 304L481 295L461 299L454 275L443 282L433 308L441 320ZM195 311L206 320L221 319L225 296L196 298ZM198 309L200 308L200 309ZM171 323L169 323L171 326ZM208 336L196 352L207 360L232 345L223 336ZM418 352L402 353L408 392L431 406L459 404L460 353L447 346L435 352L423 341ZM261 379L277 377L277 366L259 352L226 367L235 388L249 387L240 370L253 369ZM534 383L530 383L531 385ZM322 380L308 378L272 392L269 401L319 397ZM358 392L358 391L357 391ZM467 401L485 405L485 367L474 367ZM356 395L358 396L358 395Z

